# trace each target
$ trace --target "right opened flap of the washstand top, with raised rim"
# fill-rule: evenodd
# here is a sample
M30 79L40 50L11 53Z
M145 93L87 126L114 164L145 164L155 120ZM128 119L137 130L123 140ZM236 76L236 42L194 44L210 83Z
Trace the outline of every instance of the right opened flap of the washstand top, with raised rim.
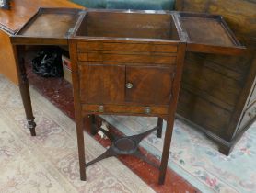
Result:
M221 16L180 12L179 21L188 51L237 54L245 49Z

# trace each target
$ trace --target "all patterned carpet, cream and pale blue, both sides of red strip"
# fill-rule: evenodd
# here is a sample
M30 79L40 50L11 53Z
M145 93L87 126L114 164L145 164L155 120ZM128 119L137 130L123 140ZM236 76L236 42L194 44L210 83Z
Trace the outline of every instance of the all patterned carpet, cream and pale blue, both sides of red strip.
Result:
M3 82L5 83L4 85ZM7 95L9 95L9 97ZM60 93L56 93L56 95L60 95ZM54 96L56 97L56 95ZM95 181L88 181L87 186L86 183L81 183L78 180L78 174L76 174L75 169L78 167L76 161L75 124L34 90L32 97L36 107L35 114L38 123L38 137L36 138L28 137L29 131L25 129L26 121L24 120L24 112L17 86L10 85L6 79L0 75L0 131L3 133L0 136L0 160L1 163L7 163L5 164L7 166L4 168L10 169L10 171L7 171L7 173L10 173L10 176L7 176L8 180L6 180L6 177L0 176L1 193L8 192L6 190L4 191L4 188L10 188L9 192L18 192L19 187L33 187L36 190L32 192L47 192L44 191L47 188L51 189L50 192L55 191L53 190L54 188L59 188L59 192L84 191L109 193L152 191L129 169L129 173L127 173L129 180L127 180L127 183L122 184L119 181L120 174L112 174L108 167L108 163L112 163L111 160L114 158L102 161L102 164L96 165L96 167L99 167L99 173L94 174L91 170L87 171L87 175L89 176L99 175L99 180L94 179ZM157 119L155 118L121 116L103 116L103 118L127 135L145 131L157 123ZM2 131L2 128L6 128L6 130ZM69 137L73 136L71 143L66 141L66 138L68 138L66 137L66 133ZM2 140L2 136L4 136L4 139L7 139L5 142ZM172 137L169 167L202 192L254 193L256 192L255 137L256 124L252 125L250 129L246 131L233 152L227 157L218 153L215 143L208 140L204 134L177 119ZM89 136L87 136L87 138L87 142L92 142L92 144L96 143L96 145L88 147L89 150L93 150L95 146L99 146L99 150L97 149L96 152L88 152L87 160L90 160L93 155L103 152L104 149L100 147L97 142L91 141L92 139ZM16 143L17 141L20 142ZM2 143L5 145L2 145ZM9 145L9 143L15 145ZM20 161L20 163L18 162L18 164L11 164L12 162L9 164L7 158L13 160L13 156L24 151L24 144L24 149L27 149L30 154L22 156L22 161ZM162 150L162 140L157 139L155 134L150 135L142 144L146 150L159 157ZM9 146L12 148L10 150L6 149ZM43 148L41 149L39 146ZM61 151L63 147L65 150ZM74 152L68 156L69 151L71 152L70 149L73 149ZM35 156L32 156L31 153L35 153ZM23 154L23 152L21 154ZM65 158L64 155L67 155L67 157ZM20 155L17 154L18 158L19 156ZM61 162L62 156L64 159ZM6 162L4 162L3 159ZM114 162L116 163L117 160L114 159ZM12 165L19 165L19 168L12 168ZM0 165L1 174L2 166ZM33 168L31 173L26 173L27 169L29 170L31 168ZM125 166L122 165L120 169L123 168L125 168ZM45 169L47 169L46 173L49 172L49 174L45 175ZM37 170L40 172L37 172ZM5 176L6 169L3 169L3 171ZM104 175L101 174L103 171L107 176L111 175L113 179L107 181L103 180ZM117 170L115 171L117 172ZM55 176L55 174L58 175ZM39 183L39 181L44 183ZM136 182L135 184L134 181ZM62 183L64 183L65 186L63 186ZM102 183L103 187L106 187L99 189ZM130 184L133 184L135 187L132 189L130 187L126 190Z

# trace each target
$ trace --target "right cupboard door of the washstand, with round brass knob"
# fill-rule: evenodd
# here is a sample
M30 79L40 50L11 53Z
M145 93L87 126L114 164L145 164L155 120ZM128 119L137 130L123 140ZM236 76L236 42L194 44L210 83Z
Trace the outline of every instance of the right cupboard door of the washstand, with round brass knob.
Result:
M174 69L174 67L126 66L126 102L145 105L169 104Z

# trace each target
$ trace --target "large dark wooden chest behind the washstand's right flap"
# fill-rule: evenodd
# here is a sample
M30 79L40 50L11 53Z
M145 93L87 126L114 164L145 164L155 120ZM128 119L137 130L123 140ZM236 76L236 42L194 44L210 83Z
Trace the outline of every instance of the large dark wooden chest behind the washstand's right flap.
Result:
M176 8L222 15L247 47L245 54L232 57L187 52L184 62L178 114L217 142L222 153L229 154L256 120L252 110L256 101L256 3L181 0L176 1Z

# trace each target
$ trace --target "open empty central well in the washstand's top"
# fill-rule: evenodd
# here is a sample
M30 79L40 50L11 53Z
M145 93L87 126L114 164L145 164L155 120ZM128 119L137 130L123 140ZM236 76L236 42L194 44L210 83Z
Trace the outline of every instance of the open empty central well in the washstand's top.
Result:
M166 12L87 10L76 37L180 40Z

